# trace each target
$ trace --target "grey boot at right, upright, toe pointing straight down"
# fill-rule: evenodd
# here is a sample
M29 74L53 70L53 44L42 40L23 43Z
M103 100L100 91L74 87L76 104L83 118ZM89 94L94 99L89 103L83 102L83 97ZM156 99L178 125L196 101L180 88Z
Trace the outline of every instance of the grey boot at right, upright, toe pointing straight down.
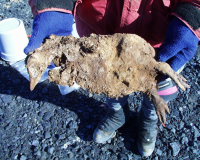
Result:
M137 146L140 154L144 157L150 156L154 151L157 136L157 122L158 119L151 120L146 118L143 110L140 110Z

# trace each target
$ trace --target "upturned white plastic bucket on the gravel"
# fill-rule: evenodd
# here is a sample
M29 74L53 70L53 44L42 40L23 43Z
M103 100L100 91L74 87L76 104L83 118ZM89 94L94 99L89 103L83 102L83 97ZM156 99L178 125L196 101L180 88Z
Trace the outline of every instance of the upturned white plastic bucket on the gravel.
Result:
M20 19L8 18L0 21L0 53L5 61L16 62L26 58L24 48L28 37Z

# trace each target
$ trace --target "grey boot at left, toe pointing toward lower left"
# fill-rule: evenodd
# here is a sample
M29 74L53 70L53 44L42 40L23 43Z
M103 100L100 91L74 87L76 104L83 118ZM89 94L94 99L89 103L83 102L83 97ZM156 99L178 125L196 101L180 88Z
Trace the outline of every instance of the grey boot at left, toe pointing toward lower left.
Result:
M123 108L115 111L108 109L107 114L99 122L93 134L93 140L96 143L105 143L116 135L116 130L130 118L130 109L128 103Z

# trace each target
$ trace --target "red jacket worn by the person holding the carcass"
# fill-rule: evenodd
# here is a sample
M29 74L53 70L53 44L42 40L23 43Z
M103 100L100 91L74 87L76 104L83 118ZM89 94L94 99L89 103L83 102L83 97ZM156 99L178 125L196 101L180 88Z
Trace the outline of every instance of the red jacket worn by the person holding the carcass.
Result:
M80 37L91 33L134 33L159 47L165 38L169 15L174 15L200 39L200 26L194 29L192 23L188 23L190 15L185 17L174 11L179 2L187 2L200 13L200 0L77 0L73 11L57 7L36 10L35 1L29 0L34 16L44 11L73 13ZM194 18L198 22L198 17Z

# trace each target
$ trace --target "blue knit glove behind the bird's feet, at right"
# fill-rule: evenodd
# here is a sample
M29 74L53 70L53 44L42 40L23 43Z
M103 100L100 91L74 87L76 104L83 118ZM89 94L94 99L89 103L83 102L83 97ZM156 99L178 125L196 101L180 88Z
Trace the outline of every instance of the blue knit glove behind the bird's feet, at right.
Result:
M169 23L164 44L157 55L158 61L167 62L177 72L196 53L199 39L178 18Z

